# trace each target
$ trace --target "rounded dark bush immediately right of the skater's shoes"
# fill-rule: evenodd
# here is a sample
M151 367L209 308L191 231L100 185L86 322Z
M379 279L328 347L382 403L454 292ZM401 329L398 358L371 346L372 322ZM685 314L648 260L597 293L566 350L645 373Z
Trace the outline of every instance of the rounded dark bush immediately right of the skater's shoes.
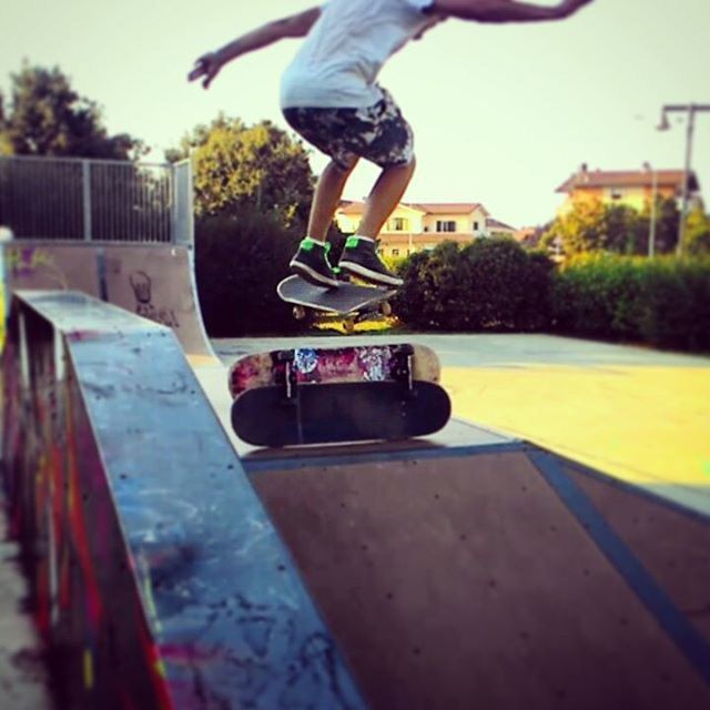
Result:
M532 331L549 323L549 271L510 239L445 242L399 267L394 306L409 326L438 331Z

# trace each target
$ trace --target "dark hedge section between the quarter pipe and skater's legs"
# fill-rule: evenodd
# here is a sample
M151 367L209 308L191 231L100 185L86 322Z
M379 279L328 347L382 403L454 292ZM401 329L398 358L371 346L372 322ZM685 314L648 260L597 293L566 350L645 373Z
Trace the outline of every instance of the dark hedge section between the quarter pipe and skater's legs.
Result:
M301 236L275 216L251 211L197 220L195 271L211 337L293 333L307 325L276 295Z

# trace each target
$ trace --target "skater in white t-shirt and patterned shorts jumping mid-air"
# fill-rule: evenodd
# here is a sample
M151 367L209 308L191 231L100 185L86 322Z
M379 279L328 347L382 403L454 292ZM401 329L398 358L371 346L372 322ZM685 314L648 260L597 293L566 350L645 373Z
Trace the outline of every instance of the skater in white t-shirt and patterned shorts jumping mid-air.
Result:
M366 281L398 286L402 280L382 263L375 240L404 195L415 160L409 124L376 83L383 64L448 17L490 23L560 20L591 1L561 0L556 7L539 7L514 0L329 0L203 54L190 80L203 79L206 89L237 57L287 37L305 37L283 74L281 105L288 124L331 162L318 180L307 236L291 267L318 285L338 285L327 257L326 235L347 178L363 158L382 173L338 266Z

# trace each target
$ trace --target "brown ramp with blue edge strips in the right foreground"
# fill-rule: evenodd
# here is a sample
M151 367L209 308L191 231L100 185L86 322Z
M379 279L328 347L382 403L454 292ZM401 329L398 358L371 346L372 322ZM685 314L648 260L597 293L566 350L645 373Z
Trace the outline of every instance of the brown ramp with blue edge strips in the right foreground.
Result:
M373 708L710 707L708 520L515 443L246 468Z

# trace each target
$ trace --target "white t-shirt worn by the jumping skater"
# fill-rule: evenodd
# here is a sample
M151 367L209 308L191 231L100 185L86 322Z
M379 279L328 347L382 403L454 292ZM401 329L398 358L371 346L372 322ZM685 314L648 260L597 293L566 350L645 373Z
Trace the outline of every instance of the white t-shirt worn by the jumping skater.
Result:
M434 0L331 0L281 81L283 109L377 103L383 64L435 20Z

